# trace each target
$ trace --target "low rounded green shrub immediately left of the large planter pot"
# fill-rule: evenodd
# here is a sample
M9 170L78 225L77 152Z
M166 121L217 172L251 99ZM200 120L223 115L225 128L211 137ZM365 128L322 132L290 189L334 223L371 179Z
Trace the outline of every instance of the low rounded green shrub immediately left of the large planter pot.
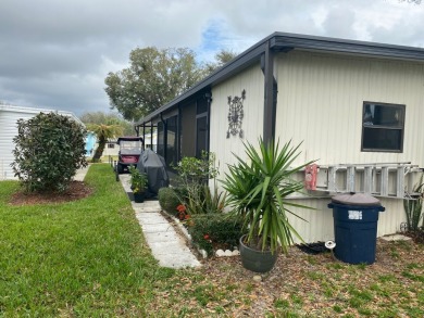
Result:
M192 242L211 255L214 246L223 250L238 246L242 222L234 216L208 214L192 215L188 231Z

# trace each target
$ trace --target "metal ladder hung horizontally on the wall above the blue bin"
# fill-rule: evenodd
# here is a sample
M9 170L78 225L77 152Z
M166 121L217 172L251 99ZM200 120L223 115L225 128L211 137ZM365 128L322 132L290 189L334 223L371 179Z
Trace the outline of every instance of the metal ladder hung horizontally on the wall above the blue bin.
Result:
M411 163L319 165L316 191L362 192L374 196L413 198L422 168Z

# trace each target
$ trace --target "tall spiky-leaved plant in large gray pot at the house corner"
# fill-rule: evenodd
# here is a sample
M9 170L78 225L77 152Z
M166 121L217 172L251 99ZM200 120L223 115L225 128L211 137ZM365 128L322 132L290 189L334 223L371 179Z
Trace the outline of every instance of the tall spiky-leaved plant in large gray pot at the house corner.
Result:
M287 213L294 214L291 207L310 208L287 200L303 189L302 181L294 180L294 175L312 163L291 167L299 147L288 142L279 150L279 142L265 144L261 138L259 152L251 143L245 143L248 160L235 155L237 163L228 165L222 182L228 205L247 230L240 239L241 262L247 269L271 270L278 251L287 253L294 243L292 234L302 240L287 218Z

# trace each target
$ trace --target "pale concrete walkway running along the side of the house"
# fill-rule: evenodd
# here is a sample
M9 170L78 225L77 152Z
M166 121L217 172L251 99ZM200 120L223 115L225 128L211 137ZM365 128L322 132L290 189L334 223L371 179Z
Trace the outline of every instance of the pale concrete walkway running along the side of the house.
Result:
M129 175L120 175L120 180L127 194L132 193ZM129 196L129 195L128 195ZM201 266L200 262L187 247L185 238L162 216L159 201L132 201L138 222L151 252L162 267L185 268Z

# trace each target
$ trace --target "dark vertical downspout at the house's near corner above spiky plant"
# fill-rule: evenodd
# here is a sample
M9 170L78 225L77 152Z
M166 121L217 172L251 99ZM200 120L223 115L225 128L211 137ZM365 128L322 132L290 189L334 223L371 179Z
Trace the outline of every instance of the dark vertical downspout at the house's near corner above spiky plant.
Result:
M275 139L275 115L277 106L277 82L274 78L274 52L270 49L270 41L267 41L265 46L262 71L264 73L265 81L263 106L263 141L270 142Z

